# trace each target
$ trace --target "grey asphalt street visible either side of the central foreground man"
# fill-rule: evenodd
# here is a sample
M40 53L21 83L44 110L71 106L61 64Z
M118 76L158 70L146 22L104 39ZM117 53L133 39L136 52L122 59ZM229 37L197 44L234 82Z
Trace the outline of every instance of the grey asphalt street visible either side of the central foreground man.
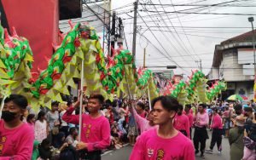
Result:
M211 132L208 132L210 139L207 140L207 148L210 146L211 143ZM205 153L206 159L208 160L229 160L230 159L230 145L228 139L224 138L222 140L222 154L218 155L217 146L213 149L213 154L207 154ZM131 146L125 146L119 150L116 151L108 151L105 154L102 155L102 160L126 160L129 159L129 156L131 154L132 147ZM196 160L202 159L200 157L200 154L198 154L195 158Z

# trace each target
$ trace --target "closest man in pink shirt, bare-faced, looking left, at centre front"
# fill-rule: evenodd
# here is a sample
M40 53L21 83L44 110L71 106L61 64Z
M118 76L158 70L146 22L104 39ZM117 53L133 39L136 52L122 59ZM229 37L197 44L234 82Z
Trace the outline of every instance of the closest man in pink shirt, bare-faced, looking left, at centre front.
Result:
M174 129L172 120L179 106L177 99L160 96L153 100L154 123L159 129L144 132L137 140L130 160L195 160L192 141Z

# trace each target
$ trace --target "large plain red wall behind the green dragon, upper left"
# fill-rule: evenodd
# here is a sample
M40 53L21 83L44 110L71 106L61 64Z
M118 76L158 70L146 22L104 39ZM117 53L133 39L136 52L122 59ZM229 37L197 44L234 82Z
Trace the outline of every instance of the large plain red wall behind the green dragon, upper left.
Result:
M32 71L46 69L58 43L58 0L2 0L9 28L15 26L19 36L29 40L34 57ZM11 29L10 29L11 31Z

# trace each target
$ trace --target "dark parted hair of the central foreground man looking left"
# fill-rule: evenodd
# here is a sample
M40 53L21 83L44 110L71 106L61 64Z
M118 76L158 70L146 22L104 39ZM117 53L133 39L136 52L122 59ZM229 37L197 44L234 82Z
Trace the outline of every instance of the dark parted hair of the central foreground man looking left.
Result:
M152 100L152 106L154 106L157 101L160 101L163 108L165 108L167 111L176 111L177 112L179 103L176 98L174 98L172 96L163 96L162 95L162 96L157 97L154 100Z

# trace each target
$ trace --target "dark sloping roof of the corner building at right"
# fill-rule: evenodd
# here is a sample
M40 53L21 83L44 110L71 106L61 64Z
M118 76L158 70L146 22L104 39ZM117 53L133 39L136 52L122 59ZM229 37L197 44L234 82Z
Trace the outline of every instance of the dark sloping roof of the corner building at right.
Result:
M256 34L256 30L254 30L254 34ZM239 36L231 37L230 39L228 39L220 44L223 45L226 43L241 43L241 42L249 42L249 41L253 41L253 31L248 31Z

